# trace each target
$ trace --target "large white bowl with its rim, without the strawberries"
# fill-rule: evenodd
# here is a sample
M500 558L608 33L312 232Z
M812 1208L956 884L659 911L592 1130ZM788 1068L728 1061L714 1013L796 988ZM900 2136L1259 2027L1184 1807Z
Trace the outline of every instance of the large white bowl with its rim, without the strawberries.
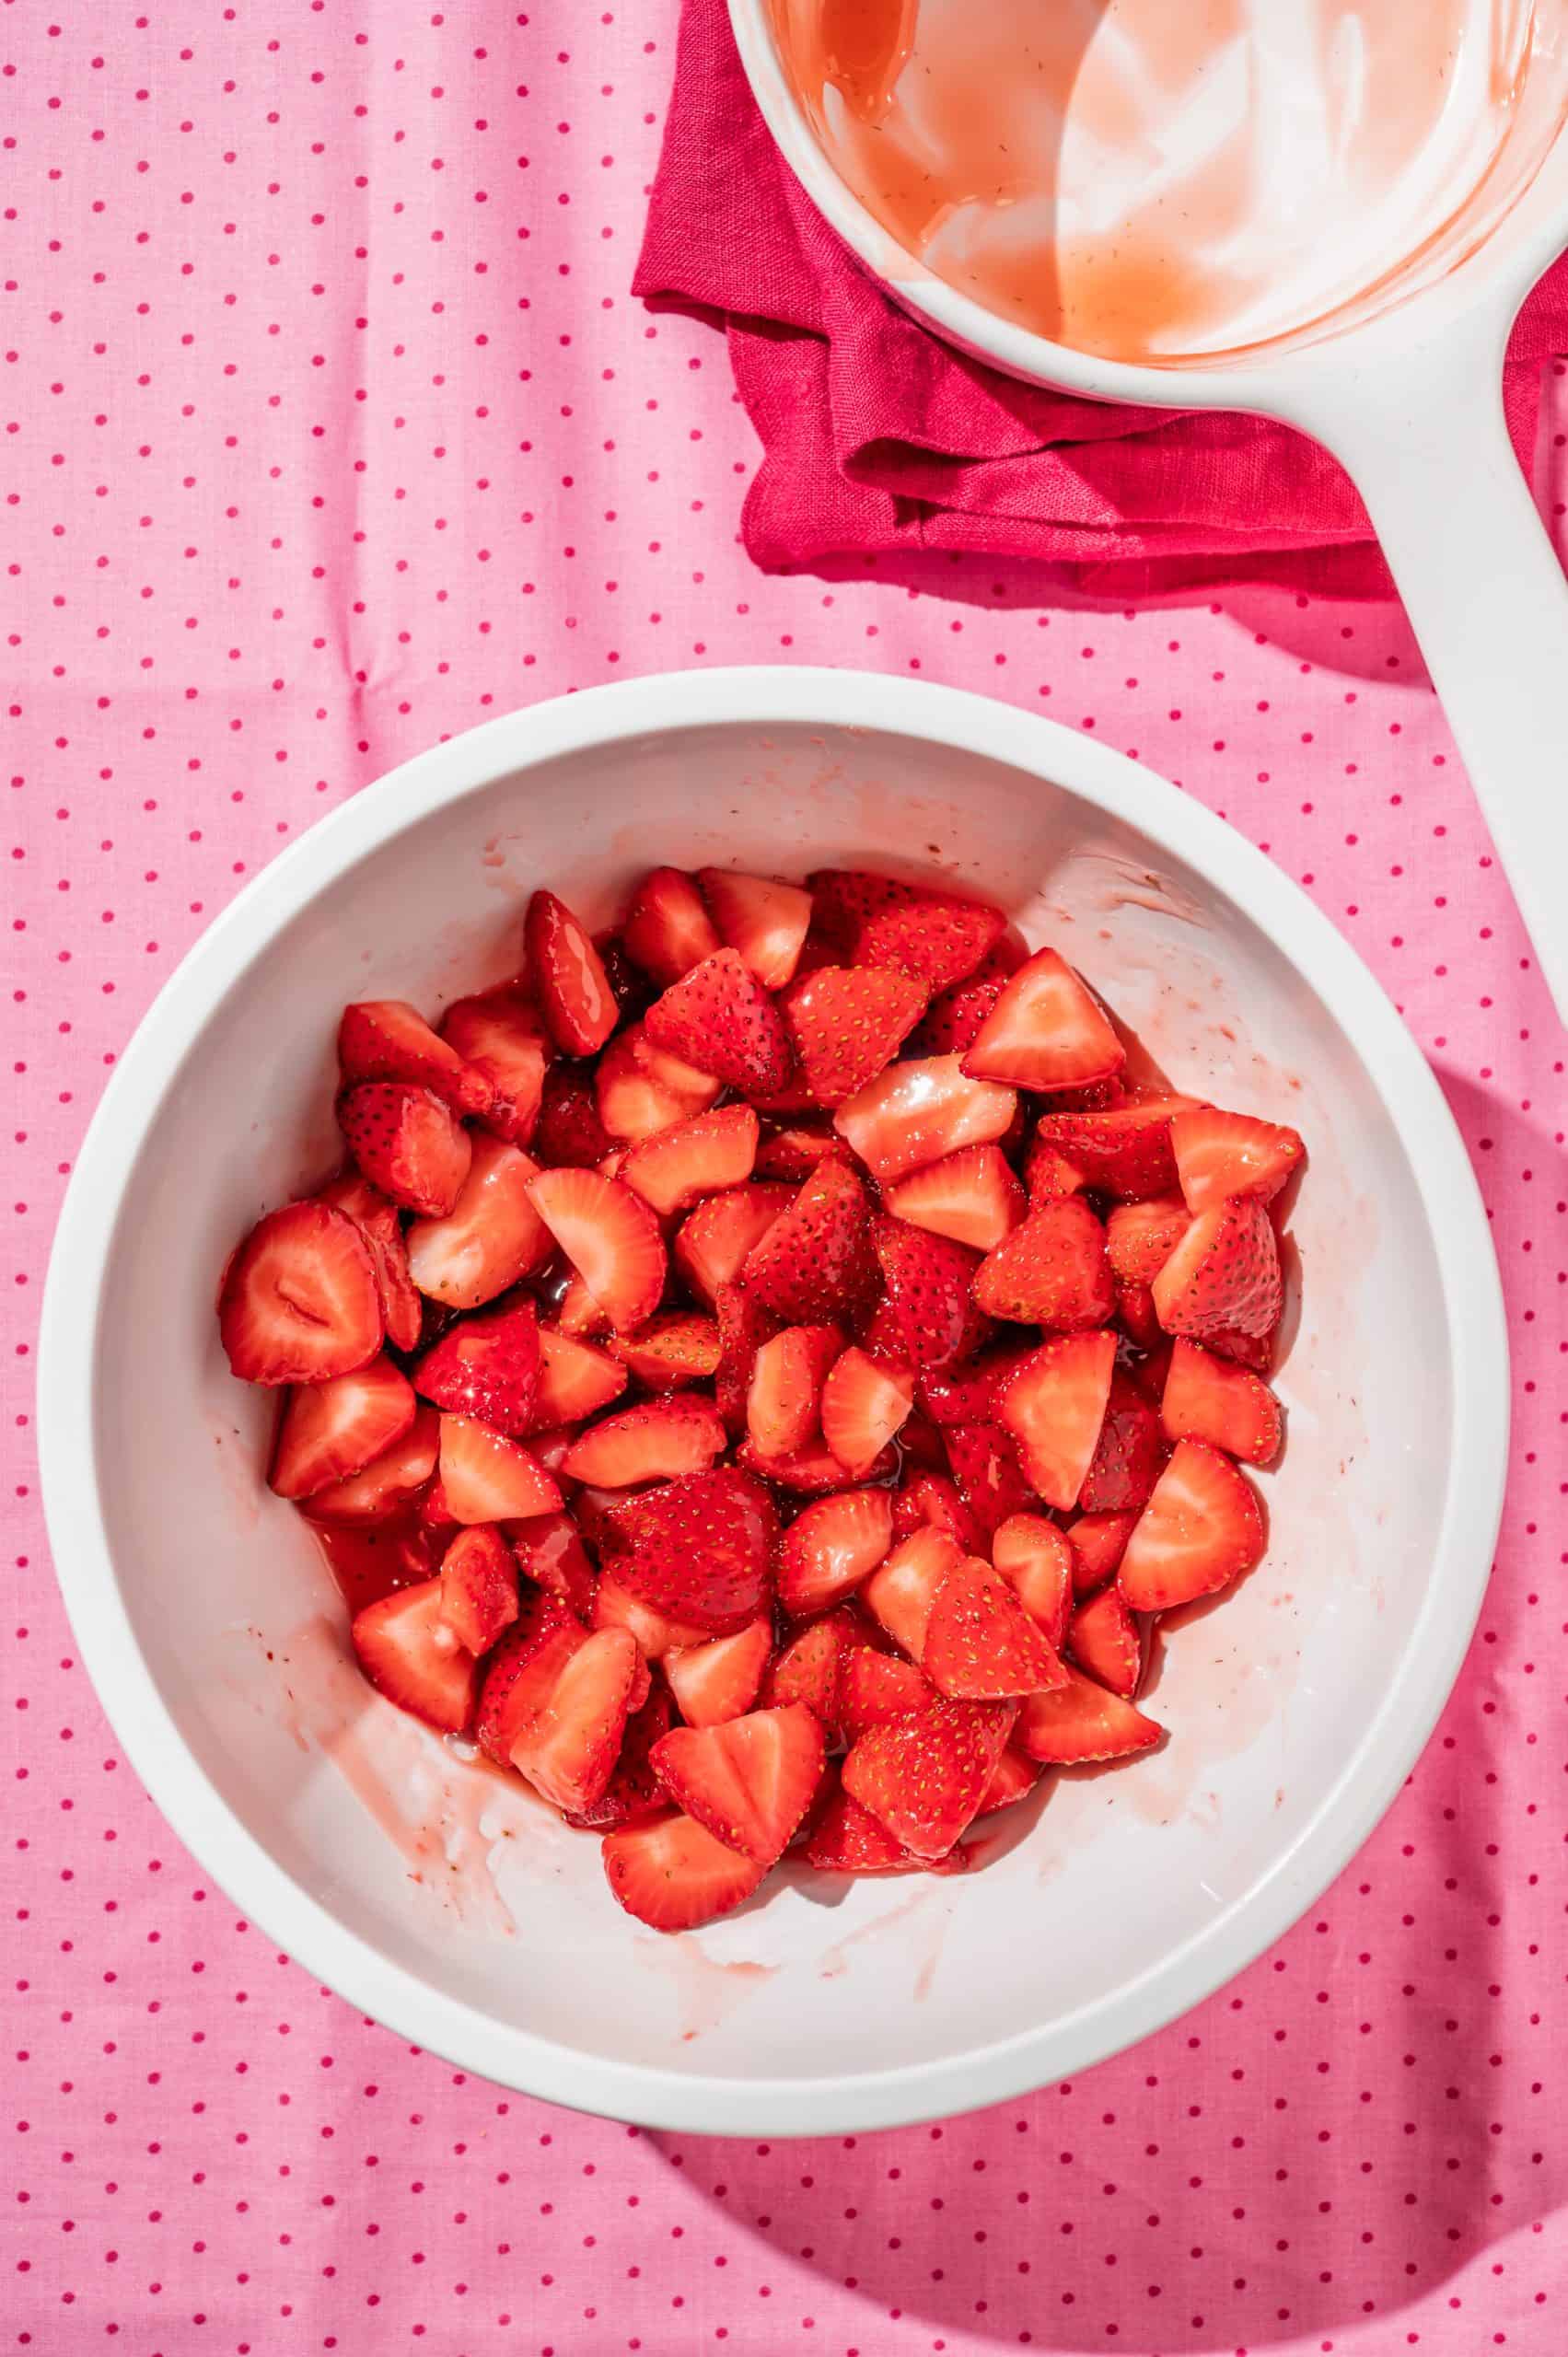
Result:
M651 860L936 867L1052 938L1181 1087L1302 1127L1299 1325L1261 1570L1162 1650L1167 1747L1059 1777L967 1879L799 1876L703 1933L344 1659L229 1376L233 1240L332 1164L344 999L509 973L526 893L594 922ZM854 672L597 688L335 811L205 933L113 1075L59 1226L40 1440L71 1619L203 1867L401 2036L556 2102L804 2133L969 2110L1167 2022L1311 1904L1457 1673L1507 1450L1476 1186L1410 1035L1207 811L1007 705Z

